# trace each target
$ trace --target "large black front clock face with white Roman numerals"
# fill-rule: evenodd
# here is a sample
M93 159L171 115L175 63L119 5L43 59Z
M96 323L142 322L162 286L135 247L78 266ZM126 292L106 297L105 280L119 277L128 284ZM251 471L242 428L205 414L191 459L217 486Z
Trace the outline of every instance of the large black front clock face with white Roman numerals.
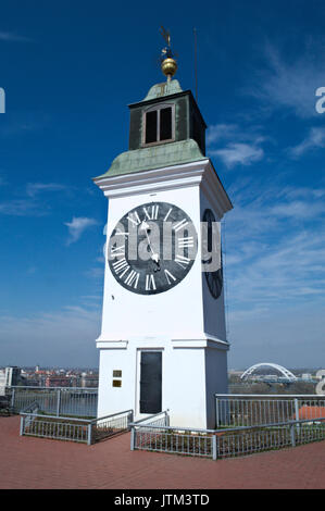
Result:
M109 241L114 278L138 295L157 295L177 286L198 251L197 232L177 205L149 202L128 211Z

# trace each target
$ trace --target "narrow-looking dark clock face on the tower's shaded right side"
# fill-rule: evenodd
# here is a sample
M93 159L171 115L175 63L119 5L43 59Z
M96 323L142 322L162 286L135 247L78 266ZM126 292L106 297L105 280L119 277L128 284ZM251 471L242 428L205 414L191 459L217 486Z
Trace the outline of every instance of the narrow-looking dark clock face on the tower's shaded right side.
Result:
M207 222L207 249L208 253L213 253L215 250L221 250L221 247L218 248L216 246L216 240L213 239L213 222L215 222L215 216L211 210L205 210L203 213L203 222ZM210 258L204 258L202 263L209 264L211 263L212 257ZM204 272L205 278L207 278L207 284L209 287L209 290L213 298L218 298L221 296L221 291L223 288L223 265L222 265L222 251L221 251L221 267L218 270L215 270L213 272Z

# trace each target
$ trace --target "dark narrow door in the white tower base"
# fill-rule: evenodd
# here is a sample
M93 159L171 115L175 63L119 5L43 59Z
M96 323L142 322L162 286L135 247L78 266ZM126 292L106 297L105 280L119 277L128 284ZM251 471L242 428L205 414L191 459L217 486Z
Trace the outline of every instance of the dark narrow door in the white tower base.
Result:
M162 352L142 351L140 361L140 413L161 412Z

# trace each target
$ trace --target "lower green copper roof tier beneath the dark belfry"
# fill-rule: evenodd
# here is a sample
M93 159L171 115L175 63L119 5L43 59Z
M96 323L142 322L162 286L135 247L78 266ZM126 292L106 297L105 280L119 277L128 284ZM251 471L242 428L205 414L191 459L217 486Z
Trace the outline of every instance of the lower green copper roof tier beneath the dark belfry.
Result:
M189 138L177 142L122 152L115 158L108 172L97 178L133 174L135 172L150 171L205 159L198 144Z

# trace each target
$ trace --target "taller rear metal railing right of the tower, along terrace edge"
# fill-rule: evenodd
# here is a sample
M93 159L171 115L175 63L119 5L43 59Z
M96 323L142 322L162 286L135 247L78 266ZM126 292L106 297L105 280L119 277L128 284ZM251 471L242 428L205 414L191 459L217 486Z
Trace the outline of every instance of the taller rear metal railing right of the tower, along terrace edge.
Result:
M254 426L325 415L325 396L215 394L218 427Z

